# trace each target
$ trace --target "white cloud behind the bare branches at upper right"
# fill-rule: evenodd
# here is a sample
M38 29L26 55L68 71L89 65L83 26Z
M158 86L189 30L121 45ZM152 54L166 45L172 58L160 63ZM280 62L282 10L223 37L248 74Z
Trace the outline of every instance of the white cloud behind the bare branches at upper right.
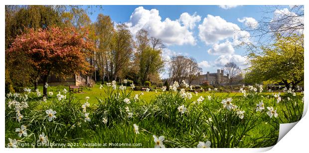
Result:
M300 29L295 30L295 28L291 27L298 27ZM291 30L287 30L289 28ZM304 16L290 12L288 8L276 9L270 23L270 29L273 31L284 30L281 34L302 34L304 32Z

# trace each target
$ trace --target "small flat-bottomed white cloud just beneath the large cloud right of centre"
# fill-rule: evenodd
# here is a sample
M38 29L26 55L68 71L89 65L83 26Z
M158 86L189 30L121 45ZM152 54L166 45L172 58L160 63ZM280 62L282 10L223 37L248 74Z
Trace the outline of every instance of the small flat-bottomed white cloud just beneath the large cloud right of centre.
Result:
M234 54L234 48L229 41L226 41L221 44L214 44L207 52L212 55Z

